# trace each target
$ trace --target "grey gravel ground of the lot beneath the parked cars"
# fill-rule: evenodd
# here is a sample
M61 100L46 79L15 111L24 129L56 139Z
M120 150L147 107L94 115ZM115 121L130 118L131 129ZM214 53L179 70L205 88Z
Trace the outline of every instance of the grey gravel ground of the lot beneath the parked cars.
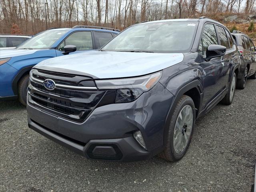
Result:
M87 160L30 130L26 109L0 102L2 192L248 192L256 158L256 81L196 122L176 163Z

